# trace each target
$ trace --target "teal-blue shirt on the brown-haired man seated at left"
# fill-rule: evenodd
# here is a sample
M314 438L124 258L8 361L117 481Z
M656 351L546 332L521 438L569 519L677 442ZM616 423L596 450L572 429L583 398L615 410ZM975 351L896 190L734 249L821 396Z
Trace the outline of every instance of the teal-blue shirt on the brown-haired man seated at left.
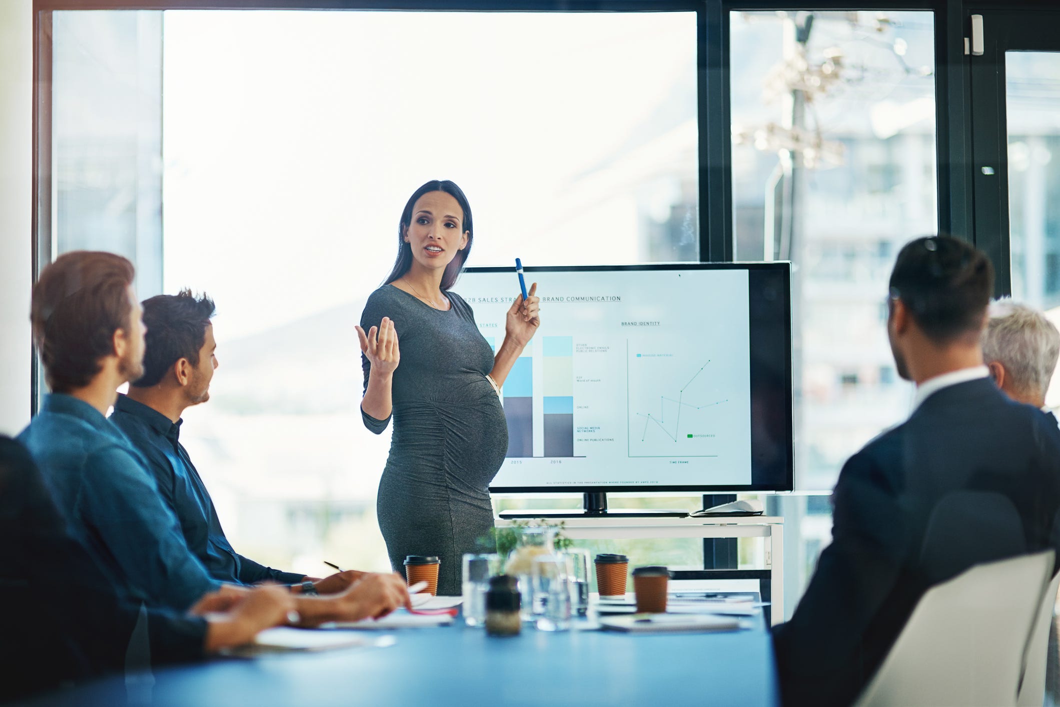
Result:
M184 611L218 588L189 552L143 458L94 407L52 393L18 440L76 534L129 598Z

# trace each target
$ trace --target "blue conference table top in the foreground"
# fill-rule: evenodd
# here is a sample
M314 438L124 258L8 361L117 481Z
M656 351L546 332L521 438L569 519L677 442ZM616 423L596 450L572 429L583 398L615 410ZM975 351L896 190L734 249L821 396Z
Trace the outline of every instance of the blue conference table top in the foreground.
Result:
M462 619L387 631L387 648L214 658L40 695L33 705L646 705L779 704L761 616L726 633L545 633L496 638ZM361 632L377 634L378 632Z

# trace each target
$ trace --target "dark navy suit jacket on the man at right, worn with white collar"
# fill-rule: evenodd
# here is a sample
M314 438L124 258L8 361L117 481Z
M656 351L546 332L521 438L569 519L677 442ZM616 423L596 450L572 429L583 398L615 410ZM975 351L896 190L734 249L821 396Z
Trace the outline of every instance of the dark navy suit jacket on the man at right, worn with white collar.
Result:
M989 378L959 383L847 461L832 496L832 543L792 620L774 630L785 707L856 699L917 601L946 579L933 576L920 553L936 503L960 490L1007 497L1026 549L1060 551L1052 540L1060 509L1055 419L1012 402ZM966 561L954 575L997 559L977 558L976 537L960 542Z

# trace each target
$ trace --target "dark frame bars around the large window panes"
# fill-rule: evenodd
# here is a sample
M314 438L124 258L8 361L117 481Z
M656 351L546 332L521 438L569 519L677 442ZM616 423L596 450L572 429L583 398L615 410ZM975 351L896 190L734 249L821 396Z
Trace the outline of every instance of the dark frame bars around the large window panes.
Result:
M974 229L983 209L1002 207L994 201L973 208L976 175L972 159L973 113L985 120L972 101L970 58L964 53L970 35L970 15L987 10L1019 19L1035 3L931 0L900 2L879 0L816 0L801 3L777 0L35 0L33 86L33 207L32 279L52 258L51 238L51 85L52 13L90 10L320 10L320 11L452 11L452 12L695 12L697 16L697 119L700 127L700 261L731 262L734 230L731 204L731 108L729 102L729 13L735 11L814 10L919 10L935 16L935 96L938 231L967 240L986 250L994 261L999 294L1007 294L1010 281L1007 261L1008 233ZM1047 11L1044 11L1047 12ZM989 34L988 34L989 41ZM989 117L989 116L988 116ZM1007 197L1007 195L1006 195ZM917 234L909 234L911 237ZM1002 259L1001 255L1006 255ZM32 411L37 411L41 371L33 354Z

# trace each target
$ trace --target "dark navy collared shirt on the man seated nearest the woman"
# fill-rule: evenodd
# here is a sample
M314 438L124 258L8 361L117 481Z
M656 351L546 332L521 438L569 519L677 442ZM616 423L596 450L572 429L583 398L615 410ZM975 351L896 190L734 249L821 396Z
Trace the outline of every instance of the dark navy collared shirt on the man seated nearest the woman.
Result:
M159 493L177 516L188 548L223 582L281 584L301 582L304 575L265 567L235 552L225 537L210 492L188 450L180 443L180 425L154 408L119 395L110 422L122 430L146 460Z

